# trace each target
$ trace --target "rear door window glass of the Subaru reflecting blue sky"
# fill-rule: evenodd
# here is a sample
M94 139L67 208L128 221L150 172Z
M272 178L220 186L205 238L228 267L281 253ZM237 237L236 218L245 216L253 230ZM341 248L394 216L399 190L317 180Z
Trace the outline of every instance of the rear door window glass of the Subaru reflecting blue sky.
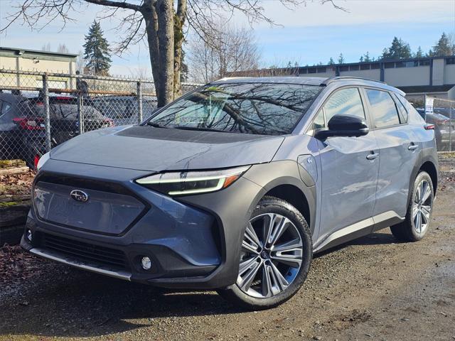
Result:
M365 89L372 109L376 128L400 124L395 102L388 92Z

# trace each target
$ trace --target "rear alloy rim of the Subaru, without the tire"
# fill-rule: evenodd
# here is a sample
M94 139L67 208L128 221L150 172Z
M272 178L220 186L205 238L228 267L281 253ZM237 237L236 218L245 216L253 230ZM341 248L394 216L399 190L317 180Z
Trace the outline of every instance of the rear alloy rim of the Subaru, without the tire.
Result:
M412 202L412 221L417 233L422 234L428 227L432 212L432 188L427 180L417 185Z

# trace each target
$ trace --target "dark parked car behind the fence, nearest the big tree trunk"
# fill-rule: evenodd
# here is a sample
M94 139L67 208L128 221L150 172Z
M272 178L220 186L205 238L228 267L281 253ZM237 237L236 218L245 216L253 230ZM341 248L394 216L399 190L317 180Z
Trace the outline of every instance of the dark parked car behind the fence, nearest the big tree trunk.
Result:
M148 118L156 109L156 97L142 96L142 117ZM117 126L138 123L136 96L100 96L92 99L92 105Z

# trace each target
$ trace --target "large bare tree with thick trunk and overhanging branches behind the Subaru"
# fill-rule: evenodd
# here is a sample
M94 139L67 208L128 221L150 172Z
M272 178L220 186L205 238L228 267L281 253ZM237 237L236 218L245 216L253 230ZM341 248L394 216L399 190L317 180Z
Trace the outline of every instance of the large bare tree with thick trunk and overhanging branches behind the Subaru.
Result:
M215 31L214 23L220 18L228 20L235 13L244 14L250 23L265 21L274 24L266 16L262 3L265 0L13 0L16 6L6 15L5 31L19 21L31 29L39 30L55 20L76 21L71 15L79 15L83 6L104 6L101 18L120 16L117 52L122 53L131 44L145 41L149 47L152 75L156 86L159 107L170 102L180 93L180 69L182 44L188 28L196 34ZM283 6L299 6L308 0L279 0ZM321 4L334 4L335 0L319 0Z

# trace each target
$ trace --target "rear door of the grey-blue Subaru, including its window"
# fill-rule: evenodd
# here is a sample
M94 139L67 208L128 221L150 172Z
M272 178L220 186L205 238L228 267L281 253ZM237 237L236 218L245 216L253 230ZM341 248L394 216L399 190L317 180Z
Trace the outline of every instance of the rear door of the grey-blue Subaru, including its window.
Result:
M373 88L365 88L364 92L380 149L373 215L405 217L410 176L421 146L407 124L405 107L394 94Z

